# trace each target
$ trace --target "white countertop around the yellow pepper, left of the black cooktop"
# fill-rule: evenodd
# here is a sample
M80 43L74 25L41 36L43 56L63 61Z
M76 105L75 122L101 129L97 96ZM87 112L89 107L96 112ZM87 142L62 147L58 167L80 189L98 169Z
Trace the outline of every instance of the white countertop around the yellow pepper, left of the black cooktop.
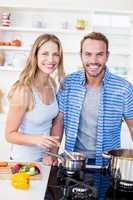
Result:
M0 199L43 200L50 169L50 166L41 165L42 179L30 180L30 188L28 190L15 189L12 187L10 180L0 180Z

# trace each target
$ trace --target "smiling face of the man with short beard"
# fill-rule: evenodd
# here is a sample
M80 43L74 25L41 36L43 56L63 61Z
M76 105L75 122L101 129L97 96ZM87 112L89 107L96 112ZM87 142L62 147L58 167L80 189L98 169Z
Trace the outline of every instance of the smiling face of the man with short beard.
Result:
M101 77L108 60L105 42L86 39L82 45L81 60L87 77Z

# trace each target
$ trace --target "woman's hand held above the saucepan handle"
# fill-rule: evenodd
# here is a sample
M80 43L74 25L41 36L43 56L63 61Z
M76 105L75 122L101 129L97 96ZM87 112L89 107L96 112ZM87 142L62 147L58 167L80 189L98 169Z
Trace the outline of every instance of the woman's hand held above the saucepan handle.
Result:
M37 136L35 138L35 145L41 148L58 148L60 146L59 137L58 136Z

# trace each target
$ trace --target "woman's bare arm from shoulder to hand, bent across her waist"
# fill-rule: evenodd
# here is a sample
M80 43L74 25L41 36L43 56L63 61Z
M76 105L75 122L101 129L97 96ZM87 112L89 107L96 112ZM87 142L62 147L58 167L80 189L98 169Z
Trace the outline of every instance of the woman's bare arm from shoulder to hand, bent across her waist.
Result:
M33 97L30 91L25 89L14 93L6 120L5 137L8 142L19 145L37 145L42 148L52 148L58 144L54 137L24 135L19 131L23 117L30 106L33 105Z

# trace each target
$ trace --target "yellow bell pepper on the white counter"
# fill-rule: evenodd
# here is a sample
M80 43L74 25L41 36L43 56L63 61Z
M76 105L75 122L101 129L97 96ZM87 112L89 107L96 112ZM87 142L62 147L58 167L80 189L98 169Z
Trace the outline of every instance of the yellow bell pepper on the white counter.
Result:
M18 172L11 177L11 184L16 189L26 190L30 186L30 176L23 172Z

